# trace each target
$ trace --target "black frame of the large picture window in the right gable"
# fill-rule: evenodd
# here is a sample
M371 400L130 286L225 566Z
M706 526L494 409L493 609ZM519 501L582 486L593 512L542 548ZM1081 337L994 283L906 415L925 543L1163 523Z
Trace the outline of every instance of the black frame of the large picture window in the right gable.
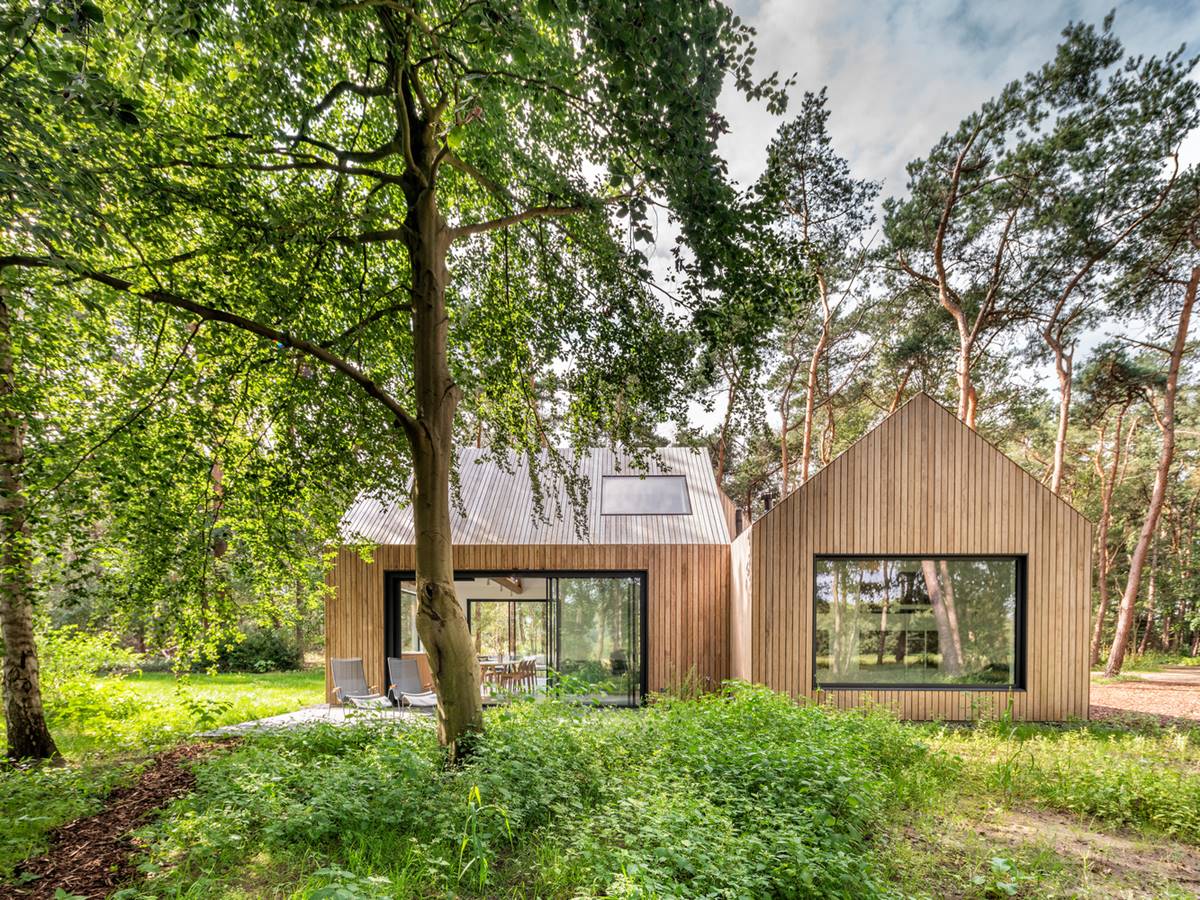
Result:
M906 684L904 682L817 682L817 563L832 559L978 559L1015 563L1016 604L1013 608L1013 682L1009 684ZM809 608L811 641L809 643L810 677L812 690L822 691L986 691L989 694L1024 694L1026 690L1026 649L1028 644L1027 625L1027 553L814 553L809 574L812 598Z

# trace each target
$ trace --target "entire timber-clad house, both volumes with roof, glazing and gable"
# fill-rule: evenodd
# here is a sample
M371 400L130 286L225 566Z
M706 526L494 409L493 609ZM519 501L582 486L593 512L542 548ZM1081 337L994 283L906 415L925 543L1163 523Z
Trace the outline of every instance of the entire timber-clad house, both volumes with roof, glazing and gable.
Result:
M644 474L580 457L580 528L564 488L544 522L522 464L461 451L456 587L488 682L636 704L742 678L911 719L1087 716L1092 527L928 396L744 529L702 452L656 455ZM424 664L410 510L360 499L344 524L376 548L337 554L326 672L361 658L385 685L389 656Z

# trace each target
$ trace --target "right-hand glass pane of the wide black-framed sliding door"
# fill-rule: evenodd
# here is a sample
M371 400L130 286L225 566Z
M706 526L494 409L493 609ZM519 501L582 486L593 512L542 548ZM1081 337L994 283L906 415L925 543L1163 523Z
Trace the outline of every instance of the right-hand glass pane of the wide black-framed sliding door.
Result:
M599 703L636 702L642 582L560 578L558 672L572 692Z

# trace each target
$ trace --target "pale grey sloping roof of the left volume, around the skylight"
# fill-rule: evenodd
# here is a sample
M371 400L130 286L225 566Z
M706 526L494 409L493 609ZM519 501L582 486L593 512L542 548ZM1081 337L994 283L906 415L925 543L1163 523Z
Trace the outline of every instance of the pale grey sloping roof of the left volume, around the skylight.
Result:
M467 544L728 544L730 529L721 505L720 488L708 454L690 448L668 446L648 460L647 475L683 475L688 480L691 515L604 516L600 514L600 486L604 475L638 475L628 458L612 450L592 449L576 456L577 472L587 476L587 533L575 528L566 487L548 472L542 481L545 512L550 522L534 512L533 485L524 461L509 457L505 472L486 458L486 450L458 451L462 510L451 502L450 529L454 542ZM556 502L562 515L556 516ZM466 515L463 515L463 511ZM407 498L385 502L360 496L342 520L348 540L371 544L413 544L413 515Z

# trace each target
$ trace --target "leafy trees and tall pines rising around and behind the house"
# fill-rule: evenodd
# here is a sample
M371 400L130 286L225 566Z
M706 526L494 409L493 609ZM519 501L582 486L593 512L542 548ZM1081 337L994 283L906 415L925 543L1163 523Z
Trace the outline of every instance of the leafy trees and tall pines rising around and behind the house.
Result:
M732 16L692 23L727 44L727 74L686 54L672 72L701 78L706 102L730 78L779 113L752 185L724 180L719 113L624 71L617 11L613 48L583 54L594 80L576 86L596 97L545 95L535 72L566 50L540 34L544 12L526 30L446 13L528 71L485 74L451 50L445 72L425 64L444 94L425 98L446 196L433 271L454 311L431 326L433 359L406 299L420 248L383 227L400 221L388 203L415 196L384 166L412 155L395 110L373 102L402 60L348 36L358 13L10 14L0 361L7 533L28 548L4 593L6 611L35 612L6 624L7 646L77 625L192 666L250 626L287 629L302 653L341 512L424 472L404 407L425 402L436 362L455 403L438 407L431 478L455 442L690 443L748 521L926 391L1096 523L1093 662L1196 655L1186 48L1134 56L1111 16L1073 24L882 197L839 154L826 92L756 80ZM334 35L336 53L316 49ZM288 83L271 61L283 46L299 54ZM528 90L544 108L517 114ZM619 133L604 124L617 110ZM587 170L600 157L602 176ZM678 235L665 274L649 262L659 228Z

